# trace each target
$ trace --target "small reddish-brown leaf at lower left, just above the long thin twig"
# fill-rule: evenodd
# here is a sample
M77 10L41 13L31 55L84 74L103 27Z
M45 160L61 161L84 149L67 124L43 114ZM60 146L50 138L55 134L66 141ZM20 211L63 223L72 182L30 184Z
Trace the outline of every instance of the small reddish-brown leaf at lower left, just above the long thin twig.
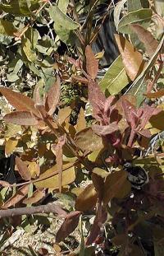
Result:
M25 180L31 179L30 171L28 170L27 165L18 156L16 156L16 166L22 179L25 179Z

